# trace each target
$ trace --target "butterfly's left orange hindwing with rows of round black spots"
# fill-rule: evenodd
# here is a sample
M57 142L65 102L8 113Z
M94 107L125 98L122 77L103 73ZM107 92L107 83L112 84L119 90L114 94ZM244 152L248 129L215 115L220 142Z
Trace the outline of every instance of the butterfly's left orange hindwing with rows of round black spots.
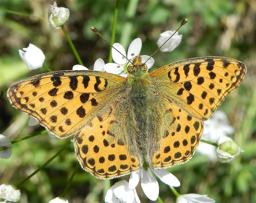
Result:
M130 145L125 134L130 131L118 119L120 113L116 104L110 105L74 136L80 165L101 179L120 177L140 169L138 155L128 150Z

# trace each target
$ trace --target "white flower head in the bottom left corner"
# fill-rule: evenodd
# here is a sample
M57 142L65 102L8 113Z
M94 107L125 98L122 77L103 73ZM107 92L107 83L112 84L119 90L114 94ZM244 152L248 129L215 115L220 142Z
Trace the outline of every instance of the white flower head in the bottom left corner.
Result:
M4 202L17 202L20 200L20 190L16 190L12 185L0 185L0 199L5 199Z

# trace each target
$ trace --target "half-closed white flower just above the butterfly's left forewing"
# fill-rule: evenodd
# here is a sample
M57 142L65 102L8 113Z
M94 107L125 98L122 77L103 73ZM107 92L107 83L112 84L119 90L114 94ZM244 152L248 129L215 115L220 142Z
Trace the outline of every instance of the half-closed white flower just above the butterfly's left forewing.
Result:
M23 48L25 52L19 50L20 58L30 70L35 70L43 66L45 56L42 50L33 44L29 44L28 48Z

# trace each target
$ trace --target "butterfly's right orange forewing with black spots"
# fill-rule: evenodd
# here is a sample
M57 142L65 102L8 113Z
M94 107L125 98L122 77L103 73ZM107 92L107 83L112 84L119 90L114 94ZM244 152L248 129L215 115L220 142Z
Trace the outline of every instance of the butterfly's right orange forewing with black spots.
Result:
M241 82L246 67L224 58L192 58L168 64L150 76L157 90L192 116L206 120Z

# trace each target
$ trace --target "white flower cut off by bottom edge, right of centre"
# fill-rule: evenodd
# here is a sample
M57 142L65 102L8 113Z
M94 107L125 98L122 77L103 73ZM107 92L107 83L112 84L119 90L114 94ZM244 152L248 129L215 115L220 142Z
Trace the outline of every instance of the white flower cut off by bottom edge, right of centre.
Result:
M180 195L176 203L214 203L215 200L207 197L207 195L186 194Z

